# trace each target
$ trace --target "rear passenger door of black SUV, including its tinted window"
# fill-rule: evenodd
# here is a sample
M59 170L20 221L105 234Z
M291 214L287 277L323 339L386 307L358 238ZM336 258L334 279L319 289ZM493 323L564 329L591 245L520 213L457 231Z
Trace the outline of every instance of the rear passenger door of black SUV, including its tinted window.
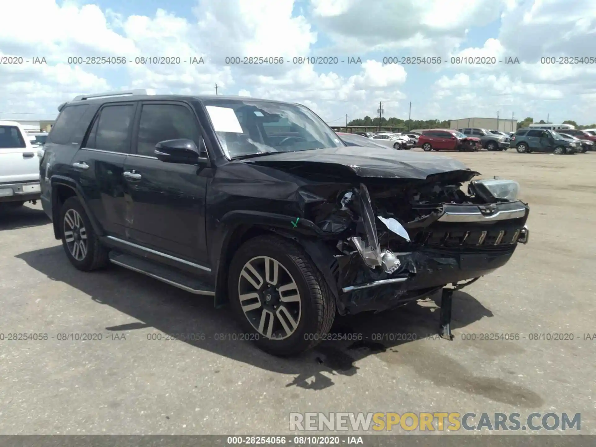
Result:
M95 115L82 147L72 159L72 176L105 232L126 233L124 161L131 147L137 104L107 103Z

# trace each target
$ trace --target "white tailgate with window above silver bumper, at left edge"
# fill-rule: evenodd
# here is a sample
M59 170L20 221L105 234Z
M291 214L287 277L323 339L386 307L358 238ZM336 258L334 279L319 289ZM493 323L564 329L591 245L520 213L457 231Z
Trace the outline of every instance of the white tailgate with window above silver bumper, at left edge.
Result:
M14 125L0 125L0 183L39 181L39 159L29 138Z

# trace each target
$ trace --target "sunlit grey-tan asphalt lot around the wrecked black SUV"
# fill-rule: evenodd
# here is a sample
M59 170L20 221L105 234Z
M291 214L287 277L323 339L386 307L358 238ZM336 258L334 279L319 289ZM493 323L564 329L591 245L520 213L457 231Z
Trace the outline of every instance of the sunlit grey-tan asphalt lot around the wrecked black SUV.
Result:
M596 434L596 341L584 340L596 333L596 153L440 155L516 179L531 208L529 244L454 294L452 342L425 338L439 316L429 301L334 328L417 340L328 342L277 359L216 340L239 330L209 297L116 266L77 271L39 204L3 212L0 434L283 434L291 411L581 412L581 433ZM10 333L48 339L8 341ZM103 339L58 340L82 333ZM520 338L479 340L484 333Z

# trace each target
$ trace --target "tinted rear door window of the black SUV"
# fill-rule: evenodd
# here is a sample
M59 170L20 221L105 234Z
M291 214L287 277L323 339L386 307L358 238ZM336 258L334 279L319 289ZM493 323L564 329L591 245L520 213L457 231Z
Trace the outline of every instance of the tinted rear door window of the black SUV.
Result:
M108 105L100 111L87 138L85 147L110 152L128 153L129 129L135 114L135 106Z

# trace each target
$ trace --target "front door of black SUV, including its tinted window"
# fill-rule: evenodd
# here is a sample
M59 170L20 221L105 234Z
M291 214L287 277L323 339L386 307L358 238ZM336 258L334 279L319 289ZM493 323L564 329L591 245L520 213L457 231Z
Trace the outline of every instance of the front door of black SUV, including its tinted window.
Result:
M211 169L158 160L155 145L176 138L204 147L194 111L175 101L142 102L123 173L128 241L208 266L205 208Z

